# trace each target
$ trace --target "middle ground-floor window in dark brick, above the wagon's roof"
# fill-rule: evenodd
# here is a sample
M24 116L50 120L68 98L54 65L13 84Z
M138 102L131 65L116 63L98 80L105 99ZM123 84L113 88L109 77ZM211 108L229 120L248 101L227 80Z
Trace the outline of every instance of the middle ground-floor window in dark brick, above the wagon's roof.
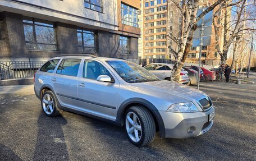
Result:
M86 30L82 27L77 28L78 51L86 53L97 52L95 45L95 34L92 30Z

